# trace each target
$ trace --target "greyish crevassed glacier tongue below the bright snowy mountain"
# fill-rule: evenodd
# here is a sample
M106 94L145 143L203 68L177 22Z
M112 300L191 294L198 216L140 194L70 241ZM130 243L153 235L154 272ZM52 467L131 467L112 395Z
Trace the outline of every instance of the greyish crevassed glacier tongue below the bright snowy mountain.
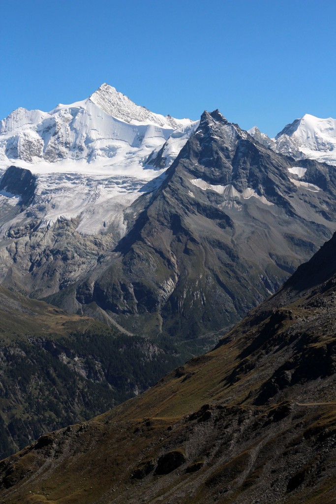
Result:
M144 192L153 191L161 181L160 177L149 181L118 175L41 175L34 208L42 218L41 227L81 216L77 227L80 233L98 234L113 225L113 233L120 238L126 231L123 210Z

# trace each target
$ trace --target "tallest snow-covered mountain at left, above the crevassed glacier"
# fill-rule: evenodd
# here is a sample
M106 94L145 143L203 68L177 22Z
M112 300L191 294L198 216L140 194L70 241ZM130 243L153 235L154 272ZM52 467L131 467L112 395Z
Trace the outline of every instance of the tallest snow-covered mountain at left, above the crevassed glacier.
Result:
M143 163L175 130L182 128L183 135L192 123L155 114L103 84L86 100L50 112L14 110L0 121L0 163L20 160L41 169L41 161L85 160L126 168Z

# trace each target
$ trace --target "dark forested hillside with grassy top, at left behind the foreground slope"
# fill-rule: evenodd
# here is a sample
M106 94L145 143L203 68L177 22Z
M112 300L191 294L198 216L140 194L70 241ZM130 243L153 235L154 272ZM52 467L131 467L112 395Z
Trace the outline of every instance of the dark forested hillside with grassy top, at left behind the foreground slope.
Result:
M0 287L0 458L134 397L185 358L174 343Z

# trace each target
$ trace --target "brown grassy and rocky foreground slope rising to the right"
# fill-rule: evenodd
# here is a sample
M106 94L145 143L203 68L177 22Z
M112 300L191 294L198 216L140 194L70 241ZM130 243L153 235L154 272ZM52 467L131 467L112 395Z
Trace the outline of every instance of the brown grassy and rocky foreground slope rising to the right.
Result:
M217 348L0 463L6 504L333 504L336 234Z

